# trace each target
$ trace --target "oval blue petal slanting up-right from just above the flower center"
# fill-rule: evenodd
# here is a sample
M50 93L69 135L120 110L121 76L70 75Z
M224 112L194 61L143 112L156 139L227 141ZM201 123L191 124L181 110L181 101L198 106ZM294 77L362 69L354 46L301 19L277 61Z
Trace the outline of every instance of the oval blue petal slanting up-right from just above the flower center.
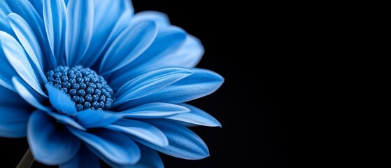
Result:
M157 27L155 22L139 22L125 29L108 48L99 71L106 75L129 64L141 55L155 40Z

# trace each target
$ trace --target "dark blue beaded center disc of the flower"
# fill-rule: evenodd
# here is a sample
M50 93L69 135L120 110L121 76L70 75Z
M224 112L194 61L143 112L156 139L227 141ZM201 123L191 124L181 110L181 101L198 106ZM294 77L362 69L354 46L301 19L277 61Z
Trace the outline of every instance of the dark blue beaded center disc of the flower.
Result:
M108 110L113 105L113 90L95 71L83 66L57 66L46 73L48 83L65 92L78 111Z

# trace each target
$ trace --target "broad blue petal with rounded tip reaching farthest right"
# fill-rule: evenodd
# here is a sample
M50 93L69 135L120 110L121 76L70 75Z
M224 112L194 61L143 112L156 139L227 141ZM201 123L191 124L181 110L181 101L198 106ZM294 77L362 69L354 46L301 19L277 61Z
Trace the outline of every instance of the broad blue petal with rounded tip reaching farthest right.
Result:
M120 109L147 104L150 102L168 102L173 104L188 102L215 92L224 82L218 73L206 69L192 69L191 76L187 76L177 83L173 83L158 92L140 99L134 99L123 104Z

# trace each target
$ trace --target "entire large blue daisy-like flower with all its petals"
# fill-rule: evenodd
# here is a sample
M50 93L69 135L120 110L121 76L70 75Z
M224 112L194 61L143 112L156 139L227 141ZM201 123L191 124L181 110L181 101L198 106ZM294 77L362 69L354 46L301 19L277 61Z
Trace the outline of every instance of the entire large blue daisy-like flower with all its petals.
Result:
M185 104L223 78L196 69L197 38L127 0L0 1L0 137L27 137L60 167L163 167L208 148L187 127L221 126Z

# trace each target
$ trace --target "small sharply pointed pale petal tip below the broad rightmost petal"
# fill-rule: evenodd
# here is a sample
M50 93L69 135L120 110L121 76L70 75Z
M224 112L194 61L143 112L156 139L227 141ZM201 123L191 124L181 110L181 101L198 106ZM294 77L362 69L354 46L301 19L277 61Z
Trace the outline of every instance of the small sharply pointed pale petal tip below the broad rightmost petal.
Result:
M166 118L176 120L185 126L203 125L208 127L221 127L221 124L210 114L189 104L180 104L190 109L190 113L180 113Z

